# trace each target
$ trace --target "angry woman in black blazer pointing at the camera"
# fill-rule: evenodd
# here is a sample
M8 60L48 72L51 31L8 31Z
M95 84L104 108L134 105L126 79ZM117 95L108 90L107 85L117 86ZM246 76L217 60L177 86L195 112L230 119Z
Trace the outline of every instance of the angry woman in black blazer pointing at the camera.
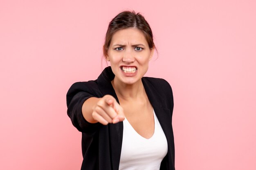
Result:
M70 87L67 114L82 132L81 170L175 170L171 86L143 77L154 50L144 17L121 12L103 46L111 66Z

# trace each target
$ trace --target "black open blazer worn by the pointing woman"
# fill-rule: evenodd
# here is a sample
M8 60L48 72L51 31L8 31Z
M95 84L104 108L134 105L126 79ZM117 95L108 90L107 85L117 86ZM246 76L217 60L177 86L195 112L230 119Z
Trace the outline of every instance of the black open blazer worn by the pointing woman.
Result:
M123 122L108 125L92 124L85 120L81 111L83 102L90 97L101 98L110 94L119 102L111 84L114 77L111 67L107 67L97 80L74 83L67 92L67 115L76 129L82 132L81 170L118 170L119 168ZM160 170L175 170L171 86L161 78L143 77L141 80L168 143L168 153L161 163Z

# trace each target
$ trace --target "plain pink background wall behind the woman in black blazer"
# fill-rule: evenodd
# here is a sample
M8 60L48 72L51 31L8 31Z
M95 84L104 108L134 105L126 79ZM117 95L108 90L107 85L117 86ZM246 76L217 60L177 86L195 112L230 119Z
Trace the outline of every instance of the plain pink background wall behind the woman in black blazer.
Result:
M155 36L146 76L173 87L176 169L255 170L255 0L0 0L0 169L80 169L65 95L105 68L108 22L126 9Z

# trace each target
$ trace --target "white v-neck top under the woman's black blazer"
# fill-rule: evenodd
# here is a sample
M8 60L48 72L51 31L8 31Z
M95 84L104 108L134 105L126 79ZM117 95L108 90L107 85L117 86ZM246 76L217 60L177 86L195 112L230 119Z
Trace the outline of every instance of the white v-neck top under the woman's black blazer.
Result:
M164 131L154 113L155 130L146 139L133 129L127 119L123 121L123 142L119 170L159 170L167 154L168 146Z

